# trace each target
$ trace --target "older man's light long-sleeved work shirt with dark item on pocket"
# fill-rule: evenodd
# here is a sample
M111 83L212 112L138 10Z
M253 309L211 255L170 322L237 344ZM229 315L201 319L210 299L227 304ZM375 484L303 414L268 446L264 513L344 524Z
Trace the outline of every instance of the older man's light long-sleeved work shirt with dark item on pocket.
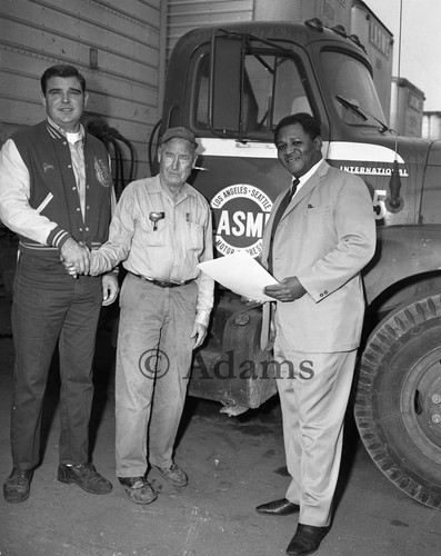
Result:
M211 212L204 197L184 183L173 199L156 176L132 181L123 190L109 240L91 254L91 274L123 261L127 270L150 280L196 279L196 320L207 327L214 282L197 265L212 259L212 252Z

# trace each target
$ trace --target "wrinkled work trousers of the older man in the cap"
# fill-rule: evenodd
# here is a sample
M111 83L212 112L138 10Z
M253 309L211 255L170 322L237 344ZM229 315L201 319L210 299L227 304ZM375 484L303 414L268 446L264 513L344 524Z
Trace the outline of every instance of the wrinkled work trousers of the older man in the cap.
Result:
M187 395L198 286L161 288L128 274L120 295L116 419L117 476L173 463Z

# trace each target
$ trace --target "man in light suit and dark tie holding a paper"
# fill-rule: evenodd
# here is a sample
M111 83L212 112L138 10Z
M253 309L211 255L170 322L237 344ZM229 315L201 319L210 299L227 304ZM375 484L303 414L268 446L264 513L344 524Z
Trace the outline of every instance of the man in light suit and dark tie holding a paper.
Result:
M278 197L263 235L262 264L279 284L264 288L275 302L263 306L261 342L268 349L273 340L292 479L284 498L255 509L299 513L287 554L305 555L330 528L364 312L360 271L373 256L375 225L364 181L322 159L312 116L283 118L274 142L297 191Z

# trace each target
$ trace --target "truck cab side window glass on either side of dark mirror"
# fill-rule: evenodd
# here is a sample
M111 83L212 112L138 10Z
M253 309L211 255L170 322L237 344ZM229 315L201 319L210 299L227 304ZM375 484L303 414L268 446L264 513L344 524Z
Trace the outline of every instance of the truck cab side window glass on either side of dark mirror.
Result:
M194 96L194 125L209 128L210 58L199 61ZM225 79L228 77L225 76ZM272 132L290 113L312 113L301 75L291 58L253 52L244 59L241 92L242 131L250 137ZM237 130L239 132L240 122Z

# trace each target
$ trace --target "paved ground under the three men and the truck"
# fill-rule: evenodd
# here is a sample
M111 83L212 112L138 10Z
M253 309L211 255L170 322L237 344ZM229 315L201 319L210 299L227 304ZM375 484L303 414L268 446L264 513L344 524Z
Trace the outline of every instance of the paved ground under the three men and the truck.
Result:
M1 556L275 556L283 555L297 517L262 517L261 503L288 485L277 399L237 418L220 405L189 398L176 460L187 488L150 478L159 492L149 506L126 497L114 478L113 349L99 336L91 439L93 461L113 492L93 496L57 481L58 387L48 386L41 466L22 504L0 499ZM9 406L12 341L0 337L0 480L11 468ZM319 556L438 556L441 512L397 489L374 466L348 419L338 507Z

